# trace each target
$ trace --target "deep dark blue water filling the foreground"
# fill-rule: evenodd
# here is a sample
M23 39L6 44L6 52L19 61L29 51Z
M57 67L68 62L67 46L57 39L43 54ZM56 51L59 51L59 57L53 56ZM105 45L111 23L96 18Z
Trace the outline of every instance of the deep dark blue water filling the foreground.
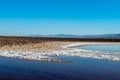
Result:
M120 80L119 62L62 58L73 62L39 62L0 57L0 80Z

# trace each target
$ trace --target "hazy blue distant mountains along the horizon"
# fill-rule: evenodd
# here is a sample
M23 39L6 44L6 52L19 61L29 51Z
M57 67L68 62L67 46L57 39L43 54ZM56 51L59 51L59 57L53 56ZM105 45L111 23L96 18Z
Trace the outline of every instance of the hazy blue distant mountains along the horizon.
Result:
M55 34L55 35L29 35L31 37L66 37L66 38L120 38L119 34L103 34L103 35L73 35L73 34Z

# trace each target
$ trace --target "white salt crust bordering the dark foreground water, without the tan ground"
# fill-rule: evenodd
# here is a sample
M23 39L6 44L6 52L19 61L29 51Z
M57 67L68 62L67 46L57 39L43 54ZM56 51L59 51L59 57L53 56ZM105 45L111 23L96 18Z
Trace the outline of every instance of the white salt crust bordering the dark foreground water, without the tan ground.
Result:
M101 43L75 43L75 44L62 46L63 48L65 48L64 50L50 50L44 52L29 52L29 51L0 52L0 56L14 57L14 58L28 59L28 60L56 61L56 62L61 62L62 60L56 59L55 56L78 56L78 57L86 57L86 58L94 58L94 59L120 61L120 52L92 51L92 50L69 48L72 46L88 45L88 44L101 44Z

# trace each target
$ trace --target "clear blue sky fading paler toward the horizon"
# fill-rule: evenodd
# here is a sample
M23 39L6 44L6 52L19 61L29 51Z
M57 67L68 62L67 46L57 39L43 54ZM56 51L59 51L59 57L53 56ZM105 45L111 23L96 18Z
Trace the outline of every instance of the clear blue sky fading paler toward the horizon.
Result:
M0 35L120 33L120 0L0 0Z

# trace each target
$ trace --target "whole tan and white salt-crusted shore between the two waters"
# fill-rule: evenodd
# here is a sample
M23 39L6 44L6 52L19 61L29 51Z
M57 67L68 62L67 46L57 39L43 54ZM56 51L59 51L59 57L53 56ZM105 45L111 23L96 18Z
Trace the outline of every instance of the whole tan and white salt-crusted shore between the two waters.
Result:
M74 46L90 44L120 44L108 42L44 42L38 44L4 46L0 56L52 62L71 62L58 56L77 56L110 61L120 61L120 52L92 51L77 49Z

